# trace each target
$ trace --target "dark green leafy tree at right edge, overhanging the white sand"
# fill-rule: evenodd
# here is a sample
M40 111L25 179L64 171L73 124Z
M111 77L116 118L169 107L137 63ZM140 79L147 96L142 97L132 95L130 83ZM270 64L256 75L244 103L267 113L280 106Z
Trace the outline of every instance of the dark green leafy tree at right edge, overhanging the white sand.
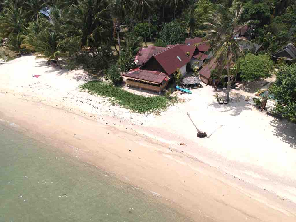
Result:
M296 64L279 68L269 92L276 99L274 112L296 123Z

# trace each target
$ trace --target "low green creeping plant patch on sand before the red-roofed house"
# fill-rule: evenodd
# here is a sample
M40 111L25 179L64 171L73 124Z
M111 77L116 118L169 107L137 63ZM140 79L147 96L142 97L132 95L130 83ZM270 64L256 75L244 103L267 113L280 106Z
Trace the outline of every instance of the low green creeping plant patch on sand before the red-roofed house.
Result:
M165 110L168 106L178 102L177 97L169 99L164 96L145 97L99 81L84 83L80 89L88 90L90 94L112 98L112 102L139 113Z

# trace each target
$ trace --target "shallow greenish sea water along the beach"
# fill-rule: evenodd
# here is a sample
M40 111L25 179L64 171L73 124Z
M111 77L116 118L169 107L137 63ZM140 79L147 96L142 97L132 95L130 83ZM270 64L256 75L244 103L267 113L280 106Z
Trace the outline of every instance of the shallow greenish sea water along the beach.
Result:
M141 189L0 122L0 221L188 221Z

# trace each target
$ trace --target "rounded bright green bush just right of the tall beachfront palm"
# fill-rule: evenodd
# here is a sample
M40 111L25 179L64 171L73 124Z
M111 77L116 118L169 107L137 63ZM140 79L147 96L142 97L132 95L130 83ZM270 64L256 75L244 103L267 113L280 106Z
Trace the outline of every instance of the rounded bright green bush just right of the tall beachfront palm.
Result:
M240 61L240 77L243 81L255 81L271 76L274 63L268 55L248 53Z

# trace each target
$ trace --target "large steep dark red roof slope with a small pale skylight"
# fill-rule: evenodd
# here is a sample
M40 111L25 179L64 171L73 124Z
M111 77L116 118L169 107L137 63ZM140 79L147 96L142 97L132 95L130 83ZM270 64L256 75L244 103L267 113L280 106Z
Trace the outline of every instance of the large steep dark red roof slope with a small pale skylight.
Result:
M186 56L185 52L178 44L153 55L153 57L168 75L172 74L177 68L183 67L190 61L190 58Z

